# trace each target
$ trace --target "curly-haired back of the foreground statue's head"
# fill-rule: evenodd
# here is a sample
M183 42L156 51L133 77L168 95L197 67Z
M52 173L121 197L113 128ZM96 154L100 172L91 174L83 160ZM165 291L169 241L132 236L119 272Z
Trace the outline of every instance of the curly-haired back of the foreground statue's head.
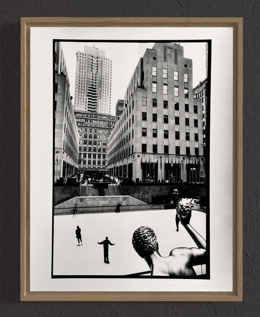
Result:
M145 226L138 228L134 232L132 243L141 258L151 255L159 248L155 232Z

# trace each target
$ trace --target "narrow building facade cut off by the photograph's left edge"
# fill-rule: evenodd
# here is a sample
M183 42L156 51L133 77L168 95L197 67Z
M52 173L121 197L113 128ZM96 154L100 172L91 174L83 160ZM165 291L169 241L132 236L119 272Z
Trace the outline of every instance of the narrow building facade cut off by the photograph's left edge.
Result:
M70 82L62 48L55 44L54 181L77 173L79 133L70 94Z

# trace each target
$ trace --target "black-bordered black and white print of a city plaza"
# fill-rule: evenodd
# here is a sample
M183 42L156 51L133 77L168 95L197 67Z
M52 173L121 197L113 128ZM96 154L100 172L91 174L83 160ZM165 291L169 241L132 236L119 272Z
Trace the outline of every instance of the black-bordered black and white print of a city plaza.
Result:
M210 279L211 44L53 39L52 278Z

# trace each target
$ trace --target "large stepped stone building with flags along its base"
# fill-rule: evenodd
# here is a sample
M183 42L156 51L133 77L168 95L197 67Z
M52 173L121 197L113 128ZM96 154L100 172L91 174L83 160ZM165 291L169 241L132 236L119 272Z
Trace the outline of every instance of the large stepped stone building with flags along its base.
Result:
M136 182L203 181L201 103L193 98L192 60L183 47L155 43L147 49L108 138L110 174Z

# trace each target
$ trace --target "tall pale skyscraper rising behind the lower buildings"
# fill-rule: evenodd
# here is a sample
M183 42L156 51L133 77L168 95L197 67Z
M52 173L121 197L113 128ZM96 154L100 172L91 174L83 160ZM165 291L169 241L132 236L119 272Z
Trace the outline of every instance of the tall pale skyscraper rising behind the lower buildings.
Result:
M112 61L106 50L77 51L75 110L110 114Z

